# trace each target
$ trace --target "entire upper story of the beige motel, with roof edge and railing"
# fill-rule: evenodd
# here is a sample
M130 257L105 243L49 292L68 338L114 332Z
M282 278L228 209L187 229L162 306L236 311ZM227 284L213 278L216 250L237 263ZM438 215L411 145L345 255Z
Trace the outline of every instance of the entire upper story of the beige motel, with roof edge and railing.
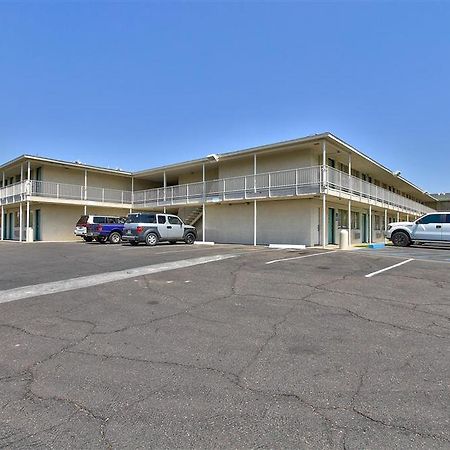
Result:
M0 166L0 180L2 204L40 199L138 208L289 197L306 189L420 214L431 199L329 133L136 173L23 156Z

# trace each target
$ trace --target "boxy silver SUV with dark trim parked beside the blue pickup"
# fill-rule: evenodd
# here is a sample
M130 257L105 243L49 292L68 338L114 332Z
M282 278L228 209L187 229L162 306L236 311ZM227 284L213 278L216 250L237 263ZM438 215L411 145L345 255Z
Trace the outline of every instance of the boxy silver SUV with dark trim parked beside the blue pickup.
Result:
M196 239L195 227L184 224L178 216L154 212L128 214L122 233L122 240L131 245L145 242L153 246L160 241L193 244Z

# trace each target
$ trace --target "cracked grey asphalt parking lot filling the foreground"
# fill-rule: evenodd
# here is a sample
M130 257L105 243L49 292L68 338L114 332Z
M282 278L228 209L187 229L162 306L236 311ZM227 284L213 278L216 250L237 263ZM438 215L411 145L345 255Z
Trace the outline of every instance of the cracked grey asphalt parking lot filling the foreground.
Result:
M450 448L450 250L0 255L0 447Z

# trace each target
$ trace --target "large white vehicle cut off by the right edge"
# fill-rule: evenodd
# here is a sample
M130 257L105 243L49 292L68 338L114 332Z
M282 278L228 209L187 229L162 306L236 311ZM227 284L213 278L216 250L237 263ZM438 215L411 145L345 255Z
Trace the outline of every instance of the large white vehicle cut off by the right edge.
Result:
M415 222L390 223L386 237L399 247L413 242L450 244L450 212L425 214Z

